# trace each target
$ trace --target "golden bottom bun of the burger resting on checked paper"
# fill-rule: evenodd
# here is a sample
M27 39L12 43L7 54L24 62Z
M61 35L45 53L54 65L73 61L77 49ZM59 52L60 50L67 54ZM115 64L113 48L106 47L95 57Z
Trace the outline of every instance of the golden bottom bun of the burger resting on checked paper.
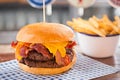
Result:
M72 62L68 64L67 66L60 67L60 68L35 68L35 67L29 67L22 63L18 63L18 64L22 70L32 73L32 74L53 75L53 74L63 73L69 70L70 68L73 67L75 62L76 62L76 54L74 53Z

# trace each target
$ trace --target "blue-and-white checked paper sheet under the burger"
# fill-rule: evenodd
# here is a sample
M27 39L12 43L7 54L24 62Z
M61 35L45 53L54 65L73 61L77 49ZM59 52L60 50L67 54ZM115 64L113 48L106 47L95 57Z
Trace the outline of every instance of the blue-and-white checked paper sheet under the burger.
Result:
M16 60L0 63L0 80L89 80L117 72L118 69L78 53L69 71L58 75L33 75L22 71Z

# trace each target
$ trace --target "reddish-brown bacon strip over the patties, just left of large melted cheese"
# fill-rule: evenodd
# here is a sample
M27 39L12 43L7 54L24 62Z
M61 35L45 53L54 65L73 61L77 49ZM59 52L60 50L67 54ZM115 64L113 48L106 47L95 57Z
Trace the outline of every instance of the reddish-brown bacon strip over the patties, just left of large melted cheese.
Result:
M30 48L36 50L38 53L41 53L44 57L47 57L49 59L51 57L47 48L45 48L45 46L43 46L42 44L33 44L30 46Z

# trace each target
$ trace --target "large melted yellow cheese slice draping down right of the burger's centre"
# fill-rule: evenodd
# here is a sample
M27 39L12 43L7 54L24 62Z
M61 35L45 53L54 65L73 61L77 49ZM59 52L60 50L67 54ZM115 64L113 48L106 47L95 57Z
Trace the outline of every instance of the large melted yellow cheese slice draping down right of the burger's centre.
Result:
M55 56L57 50L59 50L61 56L65 57L65 55L66 55L65 46L67 44L68 44L68 42L61 42L61 43L44 43L43 45L45 45L45 47L48 48L50 53L52 53L54 56Z

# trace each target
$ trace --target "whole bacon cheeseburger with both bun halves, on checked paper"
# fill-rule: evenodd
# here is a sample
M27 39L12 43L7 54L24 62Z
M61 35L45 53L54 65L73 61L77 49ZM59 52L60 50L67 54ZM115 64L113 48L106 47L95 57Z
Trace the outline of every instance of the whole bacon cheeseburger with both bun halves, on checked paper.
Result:
M76 62L73 31L58 23L34 23L18 31L11 45L20 68L32 74L58 74Z

